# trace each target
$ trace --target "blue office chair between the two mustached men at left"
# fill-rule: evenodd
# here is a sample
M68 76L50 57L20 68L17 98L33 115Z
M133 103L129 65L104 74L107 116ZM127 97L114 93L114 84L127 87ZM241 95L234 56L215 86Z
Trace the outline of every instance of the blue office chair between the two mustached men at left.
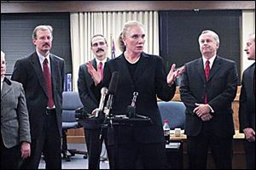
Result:
M67 149L67 130L72 128L83 127L79 124L75 117L75 111L78 108L83 107L79 98L78 92L63 92L62 94L62 155L66 161L70 161L70 156L75 154L84 155L84 159L87 158L87 152L82 150L70 150ZM70 155L67 154L70 153Z

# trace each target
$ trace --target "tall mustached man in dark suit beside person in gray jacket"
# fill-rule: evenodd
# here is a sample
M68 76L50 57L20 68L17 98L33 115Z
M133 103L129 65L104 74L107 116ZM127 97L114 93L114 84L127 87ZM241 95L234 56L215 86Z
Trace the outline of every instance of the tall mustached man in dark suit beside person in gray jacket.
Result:
M61 105L64 59L50 54L52 27L37 26L36 51L15 63L12 79L23 84L32 135L32 155L22 168L36 169L44 153L46 168L61 169Z

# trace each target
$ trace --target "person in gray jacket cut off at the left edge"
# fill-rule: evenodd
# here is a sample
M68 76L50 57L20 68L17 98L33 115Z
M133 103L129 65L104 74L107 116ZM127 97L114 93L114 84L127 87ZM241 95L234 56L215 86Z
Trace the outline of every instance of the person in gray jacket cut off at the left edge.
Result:
M30 127L24 89L5 73L5 54L1 51L1 169L17 169L20 157L30 156Z

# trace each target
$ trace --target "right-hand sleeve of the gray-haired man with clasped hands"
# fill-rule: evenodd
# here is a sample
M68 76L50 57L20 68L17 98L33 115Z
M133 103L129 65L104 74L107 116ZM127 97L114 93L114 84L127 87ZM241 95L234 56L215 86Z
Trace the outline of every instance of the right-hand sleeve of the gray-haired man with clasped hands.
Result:
M224 91L214 99L209 101L209 105L212 106L213 111L223 111L230 105L236 97L236 89L238 83L238 74L236 70L236 63L232 62L230 65L225 65L227 68L227 77L225 80ZM214 90L214 89L212 89Z

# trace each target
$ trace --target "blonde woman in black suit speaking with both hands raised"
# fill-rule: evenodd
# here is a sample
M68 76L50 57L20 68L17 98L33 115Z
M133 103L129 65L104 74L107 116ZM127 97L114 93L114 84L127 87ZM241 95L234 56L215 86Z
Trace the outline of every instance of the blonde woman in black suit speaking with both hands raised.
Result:
M113 72L119 73L117 90L113 94L113 115L124 115L127 106L131 105L133 93L138 92L136 113L150 117L153 122L148 126L114 127L117 135L114 145L118 147L114 165L118 169L135 168L137 156L141 157L143 168L166 166L165 139L157 97L165 101L172 99L176 89L174 81L182 71L174 71L175 65L172 65L167 75L160 56L143 53L144 38L143 25L131 20L125 23L122 31L125 52L106 63L103 82L92 65L88 65L97 88L108 87Z

